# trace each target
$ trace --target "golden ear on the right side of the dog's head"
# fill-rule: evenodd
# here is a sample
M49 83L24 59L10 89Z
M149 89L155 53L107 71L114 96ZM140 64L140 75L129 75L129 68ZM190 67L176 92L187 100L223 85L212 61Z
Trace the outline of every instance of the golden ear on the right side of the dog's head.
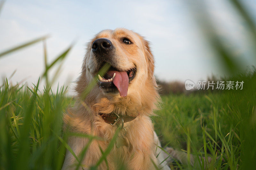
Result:
M149 47L149 41L143 39L143 46L144 54L148 64L148 75L152 77L154 75L155 60Z

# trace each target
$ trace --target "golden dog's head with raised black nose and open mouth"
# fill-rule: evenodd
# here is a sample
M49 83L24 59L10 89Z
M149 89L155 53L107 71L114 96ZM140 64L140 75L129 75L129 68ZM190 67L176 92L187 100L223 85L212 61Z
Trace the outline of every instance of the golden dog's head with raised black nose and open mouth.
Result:
M111 65L109 70L106 74L98 74L106 63ZM159 97L153 73L154 58L148 41L127 29L104 30L88 43L76 90L82 94L90 81L98 76L97 85L85 99L98 111L127 114L148 105L152 109ZM120 109L124 107L126 109Z

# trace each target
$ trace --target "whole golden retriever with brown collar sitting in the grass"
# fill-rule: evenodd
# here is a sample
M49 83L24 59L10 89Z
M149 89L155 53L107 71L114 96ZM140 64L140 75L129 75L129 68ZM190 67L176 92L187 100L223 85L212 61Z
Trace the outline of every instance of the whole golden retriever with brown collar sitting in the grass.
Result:
M107 72L100 75L106 65ZM90 89L95 77L96 85ZM68 145L79 159L85 147L87 150L81 162L67 150L62 169L75 169L78 163L81 169L96 165L119 128L99 169L148 170L157 166L170 170L150 119L160 101L157 91L149 42L124 28L99 32L87 45L76 84L76 103L63 119L65 131L103 140L69 137Z

